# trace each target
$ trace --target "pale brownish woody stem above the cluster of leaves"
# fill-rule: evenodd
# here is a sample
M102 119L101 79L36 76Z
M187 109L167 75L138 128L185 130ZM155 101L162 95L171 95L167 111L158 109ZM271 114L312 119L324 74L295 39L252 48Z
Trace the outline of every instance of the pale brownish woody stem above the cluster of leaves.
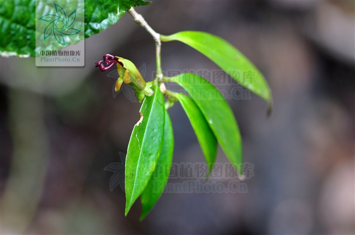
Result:
M142 15L138 14L133 7L128 10L129 14L134 19L134 22L144 27L152 36L155 42L155 53L156 53L156 63L157 63L157 74L156 77L158 80L161 80L163 77L163 73L161 70L161 60L160 60L160 51L161 51L161 41L160 34L154 31L152 27L147 23L147 21L143 18Z

